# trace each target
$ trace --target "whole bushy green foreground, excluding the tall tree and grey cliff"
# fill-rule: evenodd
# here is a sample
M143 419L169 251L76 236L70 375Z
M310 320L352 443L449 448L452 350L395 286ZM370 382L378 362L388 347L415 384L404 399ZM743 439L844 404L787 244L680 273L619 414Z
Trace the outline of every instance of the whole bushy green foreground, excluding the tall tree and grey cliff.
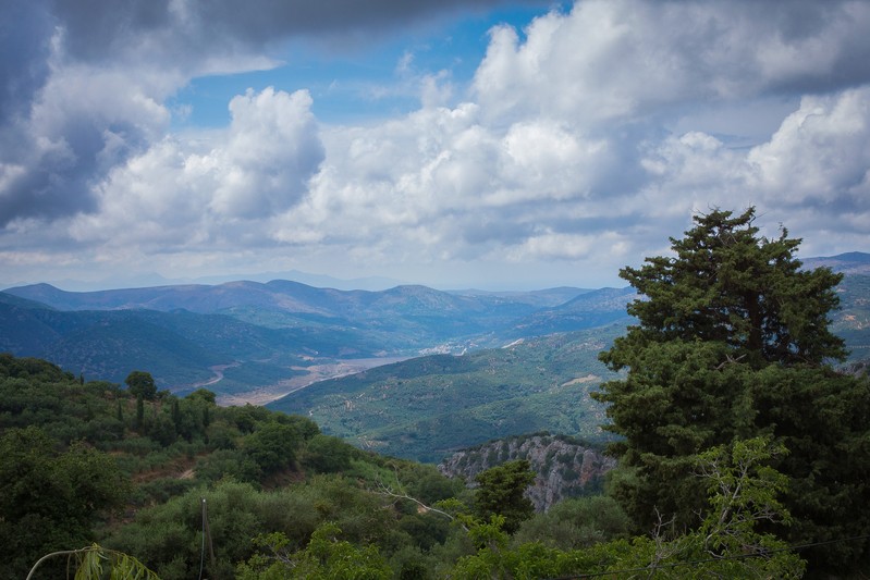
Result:
M0 576L24 578L56 551L33 578L79 565L164 580L541 578L650 563L685 572L698 569L711 531L629 540L629 518L608 496L536 515L523 495L535 479L525 460L478 472L469 490L431 466L322 435L301 417L217 407L205 390L183 398L131 391L0 356ZM750 493L762 482L753 470L739 477ZM721 520L715 506L710 521ZM782 545L751 529L738 538ZM771 552L701 566L781 576L804 564Z

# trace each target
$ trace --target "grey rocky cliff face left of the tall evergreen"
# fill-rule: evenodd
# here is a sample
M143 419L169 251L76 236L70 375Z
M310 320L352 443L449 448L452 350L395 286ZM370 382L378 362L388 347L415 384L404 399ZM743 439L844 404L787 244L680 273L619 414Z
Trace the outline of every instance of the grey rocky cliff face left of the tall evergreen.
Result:
M615 459L572 437L536 434L461 451L444 459L438 469L474 485L479 472L514 459L527 459L537 472L526 495L538 511L546 511L565 497L599 492L604 473L616 465Z

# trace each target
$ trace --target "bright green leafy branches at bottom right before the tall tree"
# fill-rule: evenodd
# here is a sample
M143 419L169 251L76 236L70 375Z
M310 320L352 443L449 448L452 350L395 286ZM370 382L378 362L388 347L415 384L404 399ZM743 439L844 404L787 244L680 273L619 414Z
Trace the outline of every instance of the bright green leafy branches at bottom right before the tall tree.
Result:
M693 458L708 489L706 516L691 532L673 532L660 521L652 535L563 551L540 542L511 545L504 517L477 523L469 535L478 552L459 558L455 578L556 578L602 575L618 578L799 578L805 562L786 544L758 530L788 514L777 495L787 478L765 464L785 449L765 439L735 442Z

